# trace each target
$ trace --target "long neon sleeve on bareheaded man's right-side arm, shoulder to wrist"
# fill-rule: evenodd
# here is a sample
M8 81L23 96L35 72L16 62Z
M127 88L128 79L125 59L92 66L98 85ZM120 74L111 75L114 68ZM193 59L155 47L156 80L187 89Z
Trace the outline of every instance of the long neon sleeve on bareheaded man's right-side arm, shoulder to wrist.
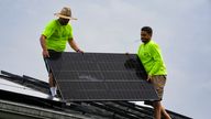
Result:
M157 44L153 44L149 50L151 50L149 52L151 52L152 58L154 60L155 63L151 72L148 73L148 75L153 75L159 71L160 66L163 65L163 60L162 60L160 48Z

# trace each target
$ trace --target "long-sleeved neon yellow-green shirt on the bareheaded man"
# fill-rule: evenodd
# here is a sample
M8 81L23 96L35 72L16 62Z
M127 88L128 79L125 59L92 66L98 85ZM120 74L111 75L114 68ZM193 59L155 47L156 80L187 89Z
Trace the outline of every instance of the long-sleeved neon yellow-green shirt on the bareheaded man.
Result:
M147 75L167 75L160 48L154 41L151 40L146 44L141 44L137 56L140 57Z

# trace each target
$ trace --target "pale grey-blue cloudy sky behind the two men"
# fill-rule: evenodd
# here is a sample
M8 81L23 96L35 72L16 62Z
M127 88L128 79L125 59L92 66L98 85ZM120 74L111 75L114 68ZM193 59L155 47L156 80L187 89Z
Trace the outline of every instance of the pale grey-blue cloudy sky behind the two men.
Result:
M40 35L63 7L85 52L136 53L141 28L152 26L168 71L164 106L209 119L211 0L0 0L0 71L47 82Z

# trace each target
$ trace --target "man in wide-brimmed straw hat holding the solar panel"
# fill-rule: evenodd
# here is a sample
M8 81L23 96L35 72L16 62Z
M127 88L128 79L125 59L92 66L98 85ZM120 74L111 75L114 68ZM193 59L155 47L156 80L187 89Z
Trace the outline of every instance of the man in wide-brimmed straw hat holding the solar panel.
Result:
M65 51L67 42L73 50L78 53L82 53L74 40L73 28L68 24L69 20L77 20L71 17L70 8L64 7L62 11L59 13L55 13L55 15L58 17L58 19L51 21L45 26L40 37L41 46L43 48L42 54L48 72L48 82L53 97L56 96L56 83L49 66L46 64L46 60L58 58Z

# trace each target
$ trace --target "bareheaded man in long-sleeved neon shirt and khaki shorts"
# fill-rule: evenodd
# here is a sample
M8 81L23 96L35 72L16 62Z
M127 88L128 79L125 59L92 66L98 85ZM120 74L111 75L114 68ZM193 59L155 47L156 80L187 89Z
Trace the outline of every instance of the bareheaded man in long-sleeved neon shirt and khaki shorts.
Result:
M166 84L166 66L164 64L162 52L154 41L152 41L153 30L149 26L144 26L141 30L141 40L137 55L144 65L147 73L147 82L152 83L157 91L159 100L146 101L154 107L154 118L160 119L162 115L165 119L170 119L164 106L162 106L164 86Z

